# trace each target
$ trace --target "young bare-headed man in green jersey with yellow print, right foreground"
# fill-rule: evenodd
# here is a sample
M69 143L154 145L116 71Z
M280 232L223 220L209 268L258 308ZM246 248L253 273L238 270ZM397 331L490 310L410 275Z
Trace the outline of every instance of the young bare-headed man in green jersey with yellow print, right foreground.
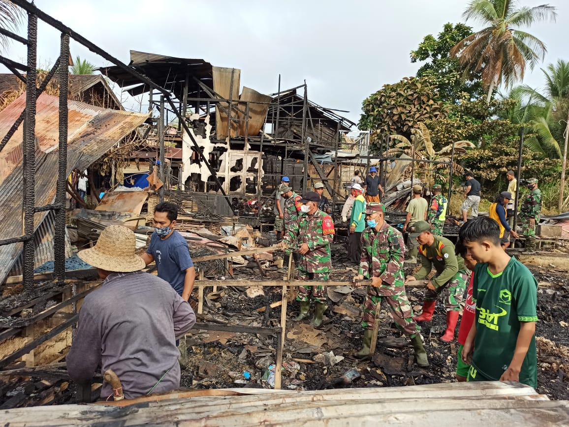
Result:
M460 228L459 239L475 267L476 318L462 358L468 381L519 381L537 387L537 280L500 246L496 221L479 217Z

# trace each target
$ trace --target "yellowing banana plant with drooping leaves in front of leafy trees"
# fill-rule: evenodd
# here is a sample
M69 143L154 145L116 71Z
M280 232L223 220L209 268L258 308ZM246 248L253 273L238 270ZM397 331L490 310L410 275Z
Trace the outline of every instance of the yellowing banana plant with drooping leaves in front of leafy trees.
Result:
M413 159L424 159L428 161L418 161L417 167L419 171L424 173L424 182L432 185L435 181L446 183L448 181L448 169L451 164L452 148L455 154L465 154L467 148L475 148L475 144L470 141L457 141L442 147L439 151L435 151L431 141L431 134L424 123L419 123L418 128L411 130L411 140L403 135L391 135L391 139L399 141L394 148L388 152L388 156L406 154ZM444 163L430 163L431 161L440 161ZM461 165L452 161L454 171L462 173L464 169Z

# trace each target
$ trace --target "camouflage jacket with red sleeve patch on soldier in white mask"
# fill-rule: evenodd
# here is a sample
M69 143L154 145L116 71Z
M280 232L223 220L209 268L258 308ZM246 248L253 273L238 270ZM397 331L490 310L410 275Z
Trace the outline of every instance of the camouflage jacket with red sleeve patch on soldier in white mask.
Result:
M298 251L304 243L308 252L300 255L300 269L309 273L324 273L332 268L330 242L334 239L334 222L330 215L317 210L314 214L302 213L286 229L283 242L287 252Z

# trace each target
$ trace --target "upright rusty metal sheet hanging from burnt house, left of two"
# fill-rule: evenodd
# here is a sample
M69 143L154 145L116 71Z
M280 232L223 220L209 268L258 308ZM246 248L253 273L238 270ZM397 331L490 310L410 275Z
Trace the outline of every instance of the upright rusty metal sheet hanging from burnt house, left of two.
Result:
M213 70L213 90L219 94L225 100L229 100L231 95L233 100L239 100L239 90L241 89L241 70L238 68L225 68L225 67L212 67ZM231 92L231 77L233 74L233 93ZM232 102L231 118L237 119L237 110L234 107L237 106L237 102ZM228 109L229 103L221 102L221 106ZM227 132L229 127L229 118L227 113L224 113L216 105L216 134L217 139L227 138ZM237 135L238 122L231 123L231 136Z

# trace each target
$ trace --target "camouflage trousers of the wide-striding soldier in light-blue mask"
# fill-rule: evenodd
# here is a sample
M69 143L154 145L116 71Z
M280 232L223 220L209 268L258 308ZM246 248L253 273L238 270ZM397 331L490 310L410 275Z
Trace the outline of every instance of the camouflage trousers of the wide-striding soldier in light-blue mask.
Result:
M405 287L401 288L401 291L395 290L393 295L380 295L380 288L368 286L361 322L364 329L373 329L376 310L381 309L381 299L384 298L389 306L391 317L393 317L395 324L398 325L405 335L413 338L420 332L421 328L413 320L413 309L411 304L409 304L409 300L407 300Z

